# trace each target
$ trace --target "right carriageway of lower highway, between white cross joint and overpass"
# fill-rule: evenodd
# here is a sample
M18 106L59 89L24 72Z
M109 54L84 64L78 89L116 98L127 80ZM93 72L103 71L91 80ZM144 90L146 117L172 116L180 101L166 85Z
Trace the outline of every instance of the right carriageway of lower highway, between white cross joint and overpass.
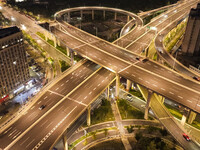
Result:
M89 105L115 78L115 74L105 68L100 69L82 84L69 98Z

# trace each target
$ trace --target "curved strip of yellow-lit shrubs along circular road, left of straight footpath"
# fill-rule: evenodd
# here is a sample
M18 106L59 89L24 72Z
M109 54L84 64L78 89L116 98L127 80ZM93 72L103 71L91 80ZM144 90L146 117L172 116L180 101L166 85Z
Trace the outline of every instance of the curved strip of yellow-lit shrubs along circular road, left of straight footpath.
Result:
M105 137L108 135L108 131L111 130L117 130L116 127L111 127L111 128L105 128L105 129L99 129L93 132L89 132L86 135L80 137L79 139L77 139L76 141L74 141L72 144L70 144L69 146L69 150L73 149L78 143L80 143L81 141L84 141L84 145L87 145L87 138L92 137L94 140L96 139L96 135L100 134L100 133L104 133Z

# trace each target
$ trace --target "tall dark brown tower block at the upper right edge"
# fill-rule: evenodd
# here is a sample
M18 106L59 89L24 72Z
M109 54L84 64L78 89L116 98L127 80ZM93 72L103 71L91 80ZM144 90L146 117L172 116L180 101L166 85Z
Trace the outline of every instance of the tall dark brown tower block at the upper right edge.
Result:
M200 56L200 3L191 9L182 44L182 54Z

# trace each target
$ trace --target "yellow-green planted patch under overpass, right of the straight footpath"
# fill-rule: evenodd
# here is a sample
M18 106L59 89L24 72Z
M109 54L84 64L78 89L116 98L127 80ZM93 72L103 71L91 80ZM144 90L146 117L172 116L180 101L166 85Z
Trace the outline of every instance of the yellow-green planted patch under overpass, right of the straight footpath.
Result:
M143 119L144 113L130 106L124 99L117 100L117 105L122 119Z

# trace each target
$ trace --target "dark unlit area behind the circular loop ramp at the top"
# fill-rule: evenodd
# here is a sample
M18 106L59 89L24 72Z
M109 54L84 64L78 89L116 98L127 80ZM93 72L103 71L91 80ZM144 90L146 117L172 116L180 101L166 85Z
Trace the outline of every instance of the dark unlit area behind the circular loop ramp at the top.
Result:
M177 0L39 0L40 2L48 2L48 4L34 4L34 0L26 2L18 2L15 0L7 0L8 4L16 5L19 8L25 8L34 14L42 14L45 17L52 16L56 11L77 6L107 6L121 8L132 12L139 10L146 11L161 6L169 5L177 2Z

